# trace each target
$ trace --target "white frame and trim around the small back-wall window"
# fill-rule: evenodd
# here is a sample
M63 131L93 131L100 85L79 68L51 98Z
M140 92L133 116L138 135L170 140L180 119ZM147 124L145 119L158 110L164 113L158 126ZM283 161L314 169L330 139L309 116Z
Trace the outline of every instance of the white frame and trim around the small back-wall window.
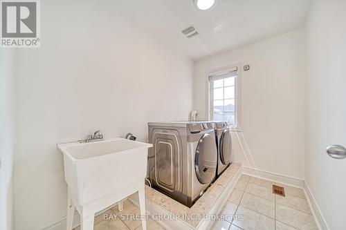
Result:
M232 65L217 70L212 70L208 73L208 119L213 119L213 105L214 105L214 81L217 80L217 75L224 75L236 71L235 76L235 124L229 123L231 131L240 131L240 82L241 82L241 64ZM227 77L220 77L224 79ZM225 87L224 87L225 88Z

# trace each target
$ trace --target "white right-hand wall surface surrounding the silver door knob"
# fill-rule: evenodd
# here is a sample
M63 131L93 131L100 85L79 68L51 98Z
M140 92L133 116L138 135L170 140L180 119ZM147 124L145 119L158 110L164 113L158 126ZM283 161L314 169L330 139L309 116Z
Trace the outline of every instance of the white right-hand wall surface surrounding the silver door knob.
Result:
M315 1L307 23L306 182L327 229L346 229L346 160L325 153L346 146L346 1ZM324 226L323 226L324 225Z

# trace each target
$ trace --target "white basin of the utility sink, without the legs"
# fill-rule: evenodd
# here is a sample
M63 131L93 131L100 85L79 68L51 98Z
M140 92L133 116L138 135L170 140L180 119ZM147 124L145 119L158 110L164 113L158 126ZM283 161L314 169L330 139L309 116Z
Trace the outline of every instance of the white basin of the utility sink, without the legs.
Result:
M124 138L58 144L64 153L65 180L80 205L120 189L147 174L152 144Z

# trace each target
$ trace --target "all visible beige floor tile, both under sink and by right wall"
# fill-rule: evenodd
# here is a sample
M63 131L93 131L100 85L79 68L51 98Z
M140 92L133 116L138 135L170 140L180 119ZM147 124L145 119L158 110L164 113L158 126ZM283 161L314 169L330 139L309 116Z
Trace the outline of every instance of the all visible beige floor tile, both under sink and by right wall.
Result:
M284 186L286 197L272 193L273 184ZM104 214L136 214L138 207L125 200L123 211L118 206L105 211L95 217L95 230L131 229L140 230L140 220L125 220L113 218L104 220ZM309 204L302 189L278 184L261 178L242 175L235 189L230 194L221 214L228 216L226 220L219 220L213 224L213 230L313 230L318 229L311 214ZM230 215L239 218L229 218ZM240 218L240 216L242 218ZM158 222L149 218L148 230L164 229ZM75 228L80 230L80 227Z

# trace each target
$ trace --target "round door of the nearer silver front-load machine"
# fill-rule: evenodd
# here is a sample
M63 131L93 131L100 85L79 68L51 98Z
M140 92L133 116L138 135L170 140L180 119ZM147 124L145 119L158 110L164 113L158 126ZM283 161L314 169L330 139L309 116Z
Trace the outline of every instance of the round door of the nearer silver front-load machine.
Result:
M194 155L194 168L197 179L201 184L212 182L217 167L217 148L215 137L209 133L204 134L197 144Z

